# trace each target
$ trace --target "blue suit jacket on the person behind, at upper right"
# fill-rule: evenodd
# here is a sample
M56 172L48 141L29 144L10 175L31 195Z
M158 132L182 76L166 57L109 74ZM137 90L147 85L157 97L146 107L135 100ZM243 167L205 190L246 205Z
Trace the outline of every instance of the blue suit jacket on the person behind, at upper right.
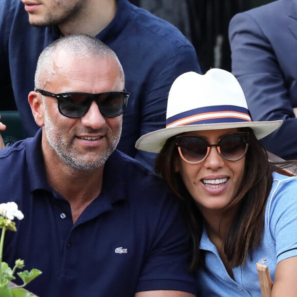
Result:
M263 143L284 159L297 159L297 1L238 13L229 23L229 42L232 73L253 120L283 120Z

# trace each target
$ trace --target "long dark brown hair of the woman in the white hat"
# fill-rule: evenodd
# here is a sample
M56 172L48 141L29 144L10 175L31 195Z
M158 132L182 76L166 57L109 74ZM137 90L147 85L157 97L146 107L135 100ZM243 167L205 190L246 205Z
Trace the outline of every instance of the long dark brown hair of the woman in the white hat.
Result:
M252 258L254 249L259 246L264 228L266 202L272 185L272 172L286 168L288 162L271 164L261 142L249 128L241 129L249 133L249 147L245 160L245 173L235 199L226 211L239 205L237 214L224 239L224 252L232 267L245 263L246 257ZM174 164L178 155L175 138L169 138L156 158L155 172L160 175L169 188L182 200L183 211L188 221L192 237L191 269L204 265L204 254L199 249L203 232L203 217L186 189L181 176L175 172Z

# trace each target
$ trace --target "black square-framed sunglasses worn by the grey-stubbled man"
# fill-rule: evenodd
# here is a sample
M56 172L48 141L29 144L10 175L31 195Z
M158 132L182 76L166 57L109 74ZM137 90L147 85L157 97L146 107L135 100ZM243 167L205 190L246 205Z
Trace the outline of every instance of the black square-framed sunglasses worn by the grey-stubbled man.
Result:
M104 117L117 117L126 109L130 96L128 92L105 92L98 94L69 92L55 94L40 89L35 90L35 92L56 98L60 114L69 118L84 116L88 112L93 100L96 101L100 113Z

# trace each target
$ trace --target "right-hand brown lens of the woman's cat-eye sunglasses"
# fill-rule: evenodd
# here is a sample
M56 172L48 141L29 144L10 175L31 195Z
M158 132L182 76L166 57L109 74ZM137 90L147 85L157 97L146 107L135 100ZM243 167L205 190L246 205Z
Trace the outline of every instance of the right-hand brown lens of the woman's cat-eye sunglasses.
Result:
M248 138L244 133L229 134L218 143L222 157L229 161L236 161L242 158L248 147Z

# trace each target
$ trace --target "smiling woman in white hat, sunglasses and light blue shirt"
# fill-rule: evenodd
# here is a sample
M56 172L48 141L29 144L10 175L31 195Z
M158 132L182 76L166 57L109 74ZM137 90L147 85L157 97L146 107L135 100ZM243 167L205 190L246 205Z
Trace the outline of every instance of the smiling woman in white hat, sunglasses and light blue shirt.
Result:
M202 296L260 296L257 262L272 296L297 296L297 177L277 173L259 141L281 122L252 121L231 73L188 72L169 92L166 128L136 142L159 153L155 171L183 201Z

